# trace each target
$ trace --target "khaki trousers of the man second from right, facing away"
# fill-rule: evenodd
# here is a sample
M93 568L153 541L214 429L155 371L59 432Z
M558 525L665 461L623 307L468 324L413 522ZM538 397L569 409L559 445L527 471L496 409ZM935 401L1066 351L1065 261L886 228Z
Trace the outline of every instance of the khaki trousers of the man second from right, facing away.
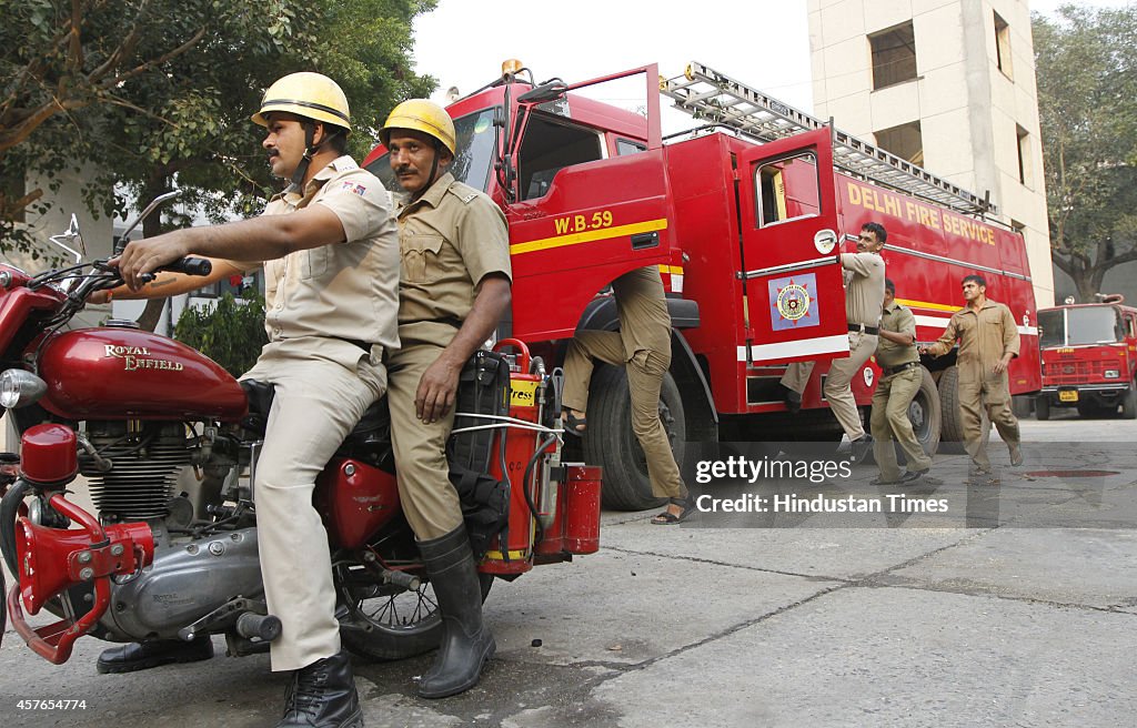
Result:
M919 367L906 369L899 374L881 377L877 391L872 394L872 454L880 467L881 480L897 480L901 477L896 465L896 449L893 438L901 443L908 470L927 470L931 467L931 458L920 446L912 421L908 419L908 405L920 391L923 370Z

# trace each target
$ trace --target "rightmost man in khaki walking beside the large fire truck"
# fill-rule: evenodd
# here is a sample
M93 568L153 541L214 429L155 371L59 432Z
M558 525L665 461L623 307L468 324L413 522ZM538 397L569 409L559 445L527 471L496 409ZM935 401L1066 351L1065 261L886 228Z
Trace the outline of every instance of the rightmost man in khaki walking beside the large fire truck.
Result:
M1011 411L1011 390L1006 368L1019 355L1019 327L1011 309L987 298L987 281L982 276L963 278L966 306L952 316L947 329L921 353L941 357L960 341L955 365L960 371L960 415L963 420L963 444L971 455L971 477L989 478L990 459L982 438L982 408L998 429L1011 454L1011 465L1022 465L1019 420Z

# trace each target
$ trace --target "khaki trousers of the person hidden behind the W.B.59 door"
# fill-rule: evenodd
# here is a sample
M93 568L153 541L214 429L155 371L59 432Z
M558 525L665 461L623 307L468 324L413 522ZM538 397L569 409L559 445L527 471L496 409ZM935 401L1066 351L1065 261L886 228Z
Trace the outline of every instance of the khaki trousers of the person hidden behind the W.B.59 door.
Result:
M659 421L659 388L671 366L671 351L640 349L625 361L624 343L619 332L578 332L565 352L565 407L588 411L588 387L592 380L594 359L623 366L631 395L632 432L647 460L652 494L656 497L686 499L687 486L671 452L667 432Z

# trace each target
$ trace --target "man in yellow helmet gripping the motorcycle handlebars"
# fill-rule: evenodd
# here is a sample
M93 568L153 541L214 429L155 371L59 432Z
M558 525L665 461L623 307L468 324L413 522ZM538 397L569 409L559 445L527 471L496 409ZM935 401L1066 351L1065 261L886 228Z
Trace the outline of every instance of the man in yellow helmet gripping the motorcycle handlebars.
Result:
M312 503L316 476L387 390L398 349L398 248L390 194L343 154L348 102L331 78L297 73L265 92L252 122L277 177L291 184L254 219L132 242L117 260L115 298L186 293L265 267L268 344L242 379L273 385L255 501L269 613L283 629L272 669L292 670L279 728L363 725L335 618L327 535ZM144 274L186 254L213 260L206 278ZM105 672L208 658L208 645L133 644L106 651Z

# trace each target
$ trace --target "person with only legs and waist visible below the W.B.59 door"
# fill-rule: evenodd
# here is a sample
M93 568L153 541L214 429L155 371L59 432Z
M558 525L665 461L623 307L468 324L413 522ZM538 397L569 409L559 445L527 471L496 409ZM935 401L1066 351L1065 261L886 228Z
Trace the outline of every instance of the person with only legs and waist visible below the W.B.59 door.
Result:
M594 360L624 367L631 395L632 432L647 460L652 493L669 499L653 524L682 522L692 511L687 486L671 452L667 432L659 421L659 388L671 366L671 315L663 281L655 266L638 268L612 282L620 318L619 332L578 332L565 352L565 432L580 435L586 427L588 387Z

